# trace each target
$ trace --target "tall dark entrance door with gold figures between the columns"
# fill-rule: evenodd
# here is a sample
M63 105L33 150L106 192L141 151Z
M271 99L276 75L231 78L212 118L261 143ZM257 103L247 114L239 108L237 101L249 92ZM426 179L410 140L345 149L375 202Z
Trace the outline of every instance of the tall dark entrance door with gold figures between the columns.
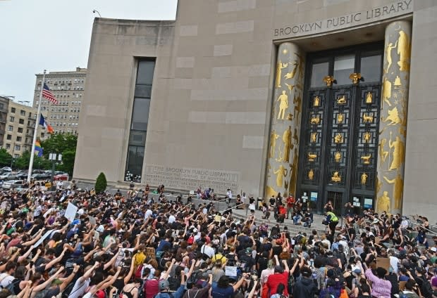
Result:
M339 213L346 202L374 207L382 52L374 44L307 57L296 194L318 212L328 200Z

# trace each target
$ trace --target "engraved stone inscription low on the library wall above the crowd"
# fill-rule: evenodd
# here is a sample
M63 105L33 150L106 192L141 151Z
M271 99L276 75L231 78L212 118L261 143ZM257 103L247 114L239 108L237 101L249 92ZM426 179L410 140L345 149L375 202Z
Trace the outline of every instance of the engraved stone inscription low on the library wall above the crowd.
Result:
M164 184L166 188L181 190L213 188L215 193L224 194L228 188L238 190L240 172L149 165L146 181L153 186Z

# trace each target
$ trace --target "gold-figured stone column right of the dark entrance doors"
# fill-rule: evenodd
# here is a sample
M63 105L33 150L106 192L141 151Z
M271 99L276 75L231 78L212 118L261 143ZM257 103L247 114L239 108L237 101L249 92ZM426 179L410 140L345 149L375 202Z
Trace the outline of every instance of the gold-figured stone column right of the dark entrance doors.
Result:
M386 27L376 212L402 213L411 34L409 21L395 21Z

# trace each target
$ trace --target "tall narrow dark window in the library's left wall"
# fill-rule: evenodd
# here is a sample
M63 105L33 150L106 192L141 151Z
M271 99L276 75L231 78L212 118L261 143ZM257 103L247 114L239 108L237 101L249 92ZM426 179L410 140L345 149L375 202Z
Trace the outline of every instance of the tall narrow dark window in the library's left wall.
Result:
M154 60L138 61L125 181L141 182L154 67Z

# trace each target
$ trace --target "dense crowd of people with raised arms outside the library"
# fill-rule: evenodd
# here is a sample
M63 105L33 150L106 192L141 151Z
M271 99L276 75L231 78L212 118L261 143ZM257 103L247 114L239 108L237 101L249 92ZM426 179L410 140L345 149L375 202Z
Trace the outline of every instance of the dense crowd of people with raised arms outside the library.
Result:
M321 233L290 197L273 198L257 219L254 200L240 196L237 207L253 205L242 221L214 202L151 191L0 190L0 298L437 297L427 219L417 237L400 214L372 210L338 226L328 203ZM307 228L271 226L269 212Z

